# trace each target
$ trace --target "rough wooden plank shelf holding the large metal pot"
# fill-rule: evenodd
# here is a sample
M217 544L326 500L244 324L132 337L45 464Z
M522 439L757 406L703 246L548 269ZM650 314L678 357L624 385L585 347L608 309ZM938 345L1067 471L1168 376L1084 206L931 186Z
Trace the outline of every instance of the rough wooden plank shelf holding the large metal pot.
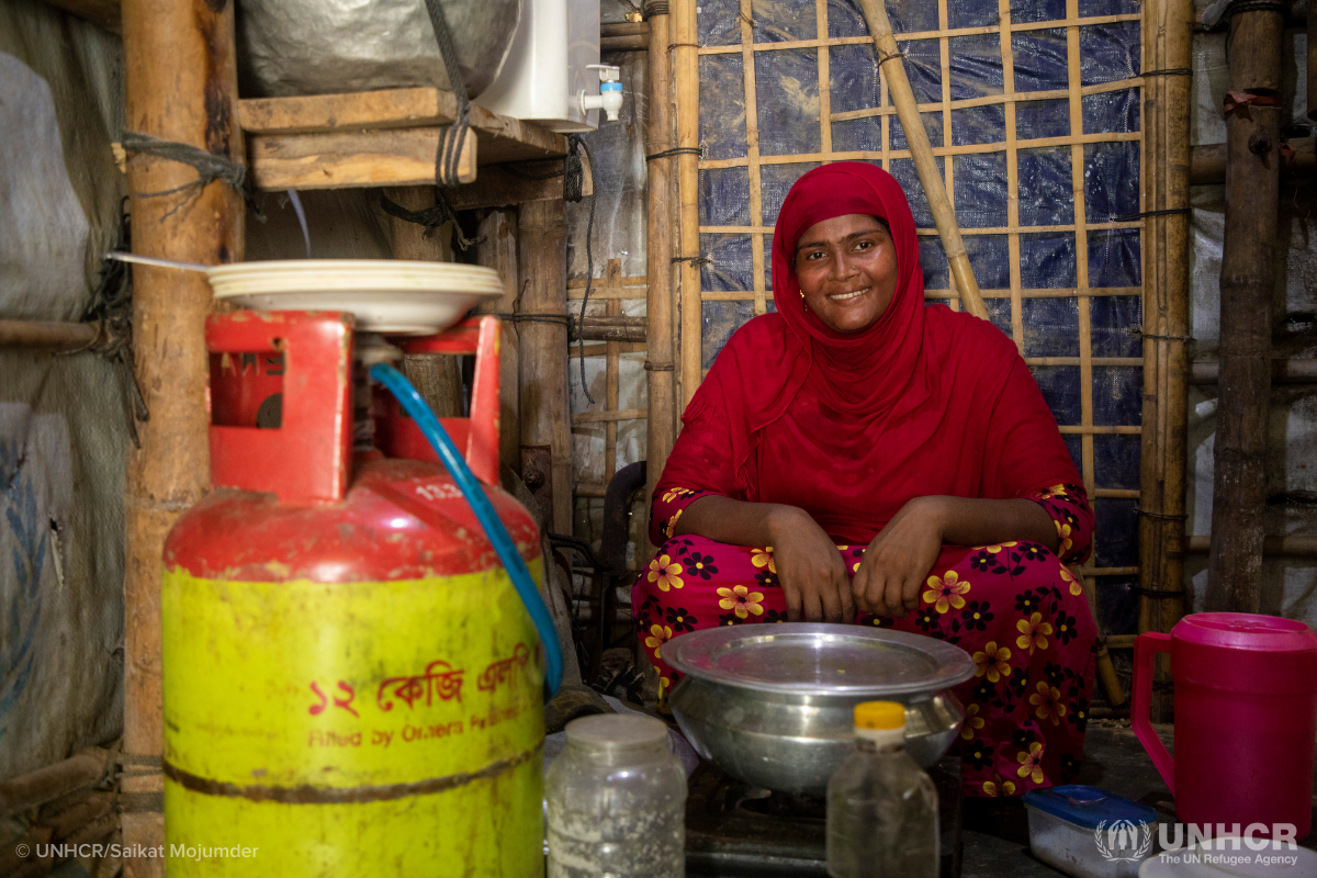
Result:
M439 138L457 117L457 99L439 88L394 88L246 99L238 113L258 190L424 186L435 182ZM566 154L562 134L481 107L471 107L470 125L481 167ZM557 190L561 197L561 179Z

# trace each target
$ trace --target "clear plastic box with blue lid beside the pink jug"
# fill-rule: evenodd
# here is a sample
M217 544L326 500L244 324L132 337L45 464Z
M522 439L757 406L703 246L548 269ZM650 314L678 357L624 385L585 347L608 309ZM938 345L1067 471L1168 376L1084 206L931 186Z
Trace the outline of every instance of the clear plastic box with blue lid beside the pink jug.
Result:
M1137 878L1156 853L1156 811L1097 787L1068 785L1025 794L1029 848L1075 878Z

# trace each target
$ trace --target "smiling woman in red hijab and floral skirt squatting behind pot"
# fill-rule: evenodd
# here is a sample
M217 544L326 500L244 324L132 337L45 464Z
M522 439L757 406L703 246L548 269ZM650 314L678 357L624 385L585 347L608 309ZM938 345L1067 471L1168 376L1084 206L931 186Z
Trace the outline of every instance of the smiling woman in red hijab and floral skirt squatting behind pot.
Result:
M661 544L632 590L658 648L712 625L857 621L977 665L957 695L967 795L1079 769L1096 627L1065 565L1093 516L1014 344L925 305L910 205L872 165L792 187L773 234L777 313L728 340L653 496Z

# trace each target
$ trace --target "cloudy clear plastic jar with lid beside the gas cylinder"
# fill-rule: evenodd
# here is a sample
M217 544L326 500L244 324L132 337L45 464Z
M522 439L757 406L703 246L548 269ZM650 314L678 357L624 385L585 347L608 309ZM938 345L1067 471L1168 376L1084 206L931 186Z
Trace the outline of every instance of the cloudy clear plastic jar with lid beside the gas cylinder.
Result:
M682 878L686 771L668 727L637 713L568 723L544 775L549 878Z

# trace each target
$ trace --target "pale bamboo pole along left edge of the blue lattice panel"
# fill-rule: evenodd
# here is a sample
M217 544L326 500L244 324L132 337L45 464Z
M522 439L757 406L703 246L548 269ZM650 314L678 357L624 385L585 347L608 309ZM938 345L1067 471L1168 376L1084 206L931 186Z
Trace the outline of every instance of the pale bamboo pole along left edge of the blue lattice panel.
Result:
M673 75L677 83L677 146L699 149L699 49L695 41L695 0L670 0ZM666 46L665 46L666 49ZM699 299L699 155L677 157L681 194L680 244L670 257L678 265L678 344L681 345L681 404L695 395L702 374L703 312ZM652 469L658 469L653 466Z

